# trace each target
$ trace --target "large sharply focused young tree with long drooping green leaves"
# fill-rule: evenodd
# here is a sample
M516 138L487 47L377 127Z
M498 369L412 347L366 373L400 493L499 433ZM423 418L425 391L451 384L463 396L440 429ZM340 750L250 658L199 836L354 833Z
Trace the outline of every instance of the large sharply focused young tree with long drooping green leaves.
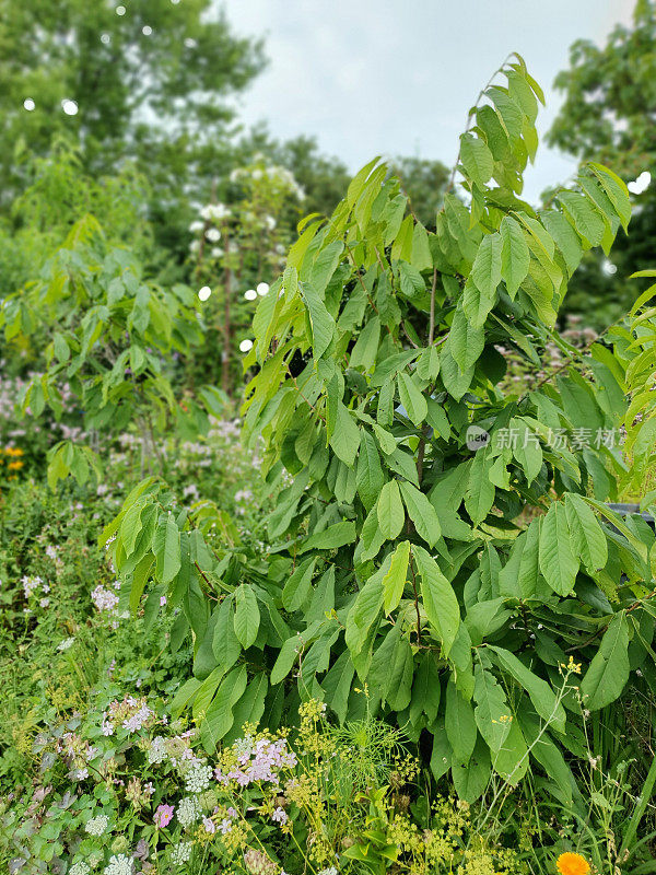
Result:
M269 520L268 564L225 523L227 542L209 553L154 483L105 532L124 576L154 567L152 592L183 607L198 678L189 700L202 701L210 748L247 695L235 666L270 672L271 723L296 697L358 719L366 685L374 712L412 739L433 735L438 774L450 768L473 800L491 775L516 784L529 762L543 767L537 738L552 758L576 749L581 712L557 696L565 652L589 662L589 710L625 686L630 638L632 666L646 665L653 631L636 630L651 622L653 536L600 503L613 480L598 470L617 466L613 454L575 440L616 429L624 406L574 368L506 395L495 350L530 361L547 342L566 348L553 325L567 281L626 225L629 198L588 165L550 209L520 200L541 92L520 58L500 73L505 84L483 92L461 138L468 203L447 195L430 232L374 160L329 220L301 224L258 307L245 431L251 445L265 439L265 475L273 482L283 466L291 478ZM621 398L607 370L605 390L614 381ZM472 445L471 427L488 439ZM535 517L524 529L520 514ZM151 520L178 529L171 581ZM564 762L547 771L551 792L571 798Z

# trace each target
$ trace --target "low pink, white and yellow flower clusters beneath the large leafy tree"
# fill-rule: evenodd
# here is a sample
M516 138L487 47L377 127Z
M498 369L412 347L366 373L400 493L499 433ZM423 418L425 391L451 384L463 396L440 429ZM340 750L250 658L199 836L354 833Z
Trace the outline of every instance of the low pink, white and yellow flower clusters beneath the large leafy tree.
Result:
M293 744L246 725L210 760L157 700L101 696L37 736L38 779L0 808L12 873L519 872L476 839L466 803L411 813L417 765L398 733L366 721L337 738L324 711L301 705Z

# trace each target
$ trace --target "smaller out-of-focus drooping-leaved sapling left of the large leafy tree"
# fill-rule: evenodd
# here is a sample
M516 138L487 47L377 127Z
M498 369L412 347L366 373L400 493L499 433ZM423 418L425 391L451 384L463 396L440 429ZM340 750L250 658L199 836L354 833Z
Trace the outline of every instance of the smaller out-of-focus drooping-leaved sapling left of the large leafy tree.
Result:
M87 214L73 225L43 278L2 302L0 325L8 341L30 337L45 324L47 368L26 385L23 412L39 416L48 406L59 418L66 386L79 399L87 432L116 434L136 420L154 457L153 419L163 429L166 417L177 415L166 357L189 350L201 337L191 290L147 281L139 261L108 245ZM142 466L145 460L144 455ZM90 466L98 471L91 450L70 441L55 445L49 462L52 487L71 472L84 482Z

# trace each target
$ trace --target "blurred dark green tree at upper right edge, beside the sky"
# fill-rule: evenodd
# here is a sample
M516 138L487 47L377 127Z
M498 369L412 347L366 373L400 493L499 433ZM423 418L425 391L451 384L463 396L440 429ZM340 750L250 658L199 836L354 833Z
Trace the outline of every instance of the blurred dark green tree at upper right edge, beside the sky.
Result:
M599 161L626 182L648 171L656 177L656 3L640 0L633 25L618 25L605 46L578 40L570 69L555 88L565 101L547 140L581 160ZM635 195L629 236L618 236L607 261L588 254L567 293L570 312L607 325L640 291L628 277L652 267L656 242L656 185ZM609 271L617 268L617 272Z

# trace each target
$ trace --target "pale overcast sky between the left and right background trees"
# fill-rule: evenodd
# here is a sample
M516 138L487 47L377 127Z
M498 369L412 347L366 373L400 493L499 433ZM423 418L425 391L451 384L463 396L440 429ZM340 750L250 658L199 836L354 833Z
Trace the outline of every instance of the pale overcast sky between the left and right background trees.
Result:
M633 0L223 0L238 34L266 38L269 67L244 95L248 125L281 139L317 138L355 171L376 154L449 166L467 110L509 51L544 89L540 133L558 109L552 90L578 38L604 43L630 23ZM575 162L541 145L526 176L536 200Z

